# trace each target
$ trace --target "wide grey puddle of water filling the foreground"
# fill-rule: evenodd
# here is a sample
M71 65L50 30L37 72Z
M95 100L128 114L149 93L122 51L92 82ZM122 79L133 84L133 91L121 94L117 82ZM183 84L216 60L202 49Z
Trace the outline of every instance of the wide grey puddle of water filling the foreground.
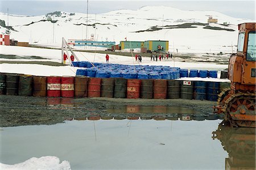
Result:
M0 162L51 155L72 169L224 169L225 161L255 168L246 164L255 163L255 132L222 128L213 140L220 122L112 119L4 127Z

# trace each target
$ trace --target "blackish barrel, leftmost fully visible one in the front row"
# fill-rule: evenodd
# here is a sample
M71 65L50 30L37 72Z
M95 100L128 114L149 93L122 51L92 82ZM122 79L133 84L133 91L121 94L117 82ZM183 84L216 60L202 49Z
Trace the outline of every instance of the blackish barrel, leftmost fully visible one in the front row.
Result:
M18 95L19 90L19 75L7 74L6 75L6 94Z

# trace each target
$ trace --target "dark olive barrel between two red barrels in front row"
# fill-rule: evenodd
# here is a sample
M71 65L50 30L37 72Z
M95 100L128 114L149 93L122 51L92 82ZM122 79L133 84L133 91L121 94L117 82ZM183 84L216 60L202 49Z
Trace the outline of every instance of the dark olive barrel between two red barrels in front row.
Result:
M141 98L153 98L153 85L154 80L141 80Z

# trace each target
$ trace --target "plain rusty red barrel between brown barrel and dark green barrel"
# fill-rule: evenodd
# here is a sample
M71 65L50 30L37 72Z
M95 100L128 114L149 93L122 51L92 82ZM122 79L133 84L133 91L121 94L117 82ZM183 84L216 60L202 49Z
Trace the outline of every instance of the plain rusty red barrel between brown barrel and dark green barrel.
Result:
M101 78L90 77L88 97L101 97Z

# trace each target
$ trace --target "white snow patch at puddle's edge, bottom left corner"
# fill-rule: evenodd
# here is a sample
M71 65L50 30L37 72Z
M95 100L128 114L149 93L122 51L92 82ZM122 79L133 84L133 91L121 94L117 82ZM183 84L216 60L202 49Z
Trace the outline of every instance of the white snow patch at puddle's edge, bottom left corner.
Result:
M40 158L32 157L24 161L23 163L7 165L0 163L0 168L5 169L48 169L48 170L69 170L71 166L67 160L64 160L60 163L60 159L55 156L43 156Z

